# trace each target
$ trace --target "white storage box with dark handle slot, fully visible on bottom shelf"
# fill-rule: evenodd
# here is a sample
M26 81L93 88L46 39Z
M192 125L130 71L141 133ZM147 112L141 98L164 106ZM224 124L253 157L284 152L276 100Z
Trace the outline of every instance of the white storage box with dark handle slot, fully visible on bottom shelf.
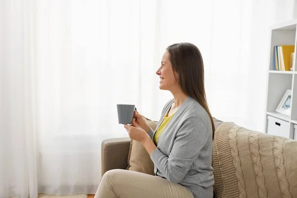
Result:
M289 122L272 117L270 115L267 116L267 119L268 119L268 126L267 126L268 134L290 138Z

